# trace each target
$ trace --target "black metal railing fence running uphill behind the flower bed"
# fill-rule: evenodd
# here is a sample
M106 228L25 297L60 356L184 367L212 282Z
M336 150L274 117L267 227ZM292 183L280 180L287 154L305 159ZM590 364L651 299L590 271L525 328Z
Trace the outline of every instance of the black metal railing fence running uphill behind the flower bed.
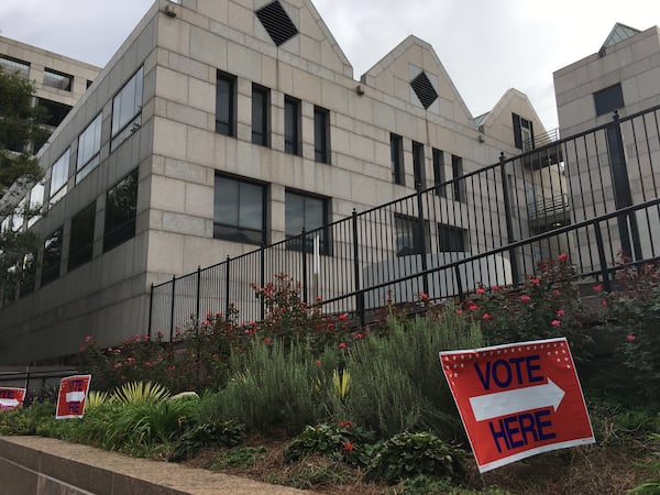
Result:
M207 312L264 317L253 285L278 274L326 312L364 323L386 300L462 298L479 284L517 284L536 264L571 256L606 288L625 252L660 257L660 107L619 118L321 229L152 286L150 332L170 339Z

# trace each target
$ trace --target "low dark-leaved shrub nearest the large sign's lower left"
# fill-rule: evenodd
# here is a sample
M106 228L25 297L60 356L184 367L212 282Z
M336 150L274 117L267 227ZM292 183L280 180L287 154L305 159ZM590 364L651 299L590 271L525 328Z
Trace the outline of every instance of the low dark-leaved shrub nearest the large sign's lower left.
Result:
M418 474L461 480L466 453L432 433L398 433L377 449L366 474L393 484Z

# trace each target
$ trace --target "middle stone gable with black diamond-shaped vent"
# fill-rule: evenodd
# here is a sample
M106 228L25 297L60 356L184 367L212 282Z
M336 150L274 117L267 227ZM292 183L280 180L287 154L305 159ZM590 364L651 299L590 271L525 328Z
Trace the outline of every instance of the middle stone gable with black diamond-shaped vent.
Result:
M416 36L406 37L361 78L363 85L473 127L473 118L432 46Z

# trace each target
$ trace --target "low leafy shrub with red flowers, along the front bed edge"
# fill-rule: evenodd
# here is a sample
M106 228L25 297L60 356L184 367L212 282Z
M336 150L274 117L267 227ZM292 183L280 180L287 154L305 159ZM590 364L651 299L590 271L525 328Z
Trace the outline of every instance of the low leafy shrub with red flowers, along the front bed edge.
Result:
M364 466L371 461L374 438L372 431L351 421L308 426L284 449L284 460L294 462L317 454Z

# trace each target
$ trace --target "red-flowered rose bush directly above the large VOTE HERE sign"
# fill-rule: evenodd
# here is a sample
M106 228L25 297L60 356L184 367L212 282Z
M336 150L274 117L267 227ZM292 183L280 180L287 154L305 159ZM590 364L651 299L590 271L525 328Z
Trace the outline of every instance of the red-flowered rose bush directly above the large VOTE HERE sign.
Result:
M479 287L462 306L463 315L479 320L488 344L565 337L575 358L588 358L588 337L574 268L568 255L538 264L535 275L519 287Z

